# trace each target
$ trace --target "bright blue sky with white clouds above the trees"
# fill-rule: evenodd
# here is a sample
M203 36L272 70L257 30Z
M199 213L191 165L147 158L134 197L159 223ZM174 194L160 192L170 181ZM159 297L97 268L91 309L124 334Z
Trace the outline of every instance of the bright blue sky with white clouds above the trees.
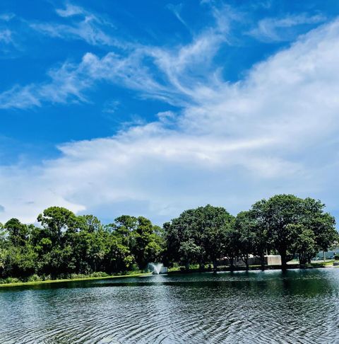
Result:
M0 222L156 224L279 193L339 217L339 1L1 0Z

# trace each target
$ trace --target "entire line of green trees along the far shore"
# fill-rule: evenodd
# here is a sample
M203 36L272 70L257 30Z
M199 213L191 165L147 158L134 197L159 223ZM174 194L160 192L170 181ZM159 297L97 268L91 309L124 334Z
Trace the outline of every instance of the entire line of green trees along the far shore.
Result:
M93 215L76 216L49 207L38 226L10 219L0 225L0 275L27 280L72 274L114 274L143 270L147 263L213 264L228 258L230 268L249 256L265 267L266 253L280 254L282 268L298 257L304 265L338 242L335 219L312 198L275 195L232 216L223 207L198 207L158 227L145 217L122 215L102 224Z

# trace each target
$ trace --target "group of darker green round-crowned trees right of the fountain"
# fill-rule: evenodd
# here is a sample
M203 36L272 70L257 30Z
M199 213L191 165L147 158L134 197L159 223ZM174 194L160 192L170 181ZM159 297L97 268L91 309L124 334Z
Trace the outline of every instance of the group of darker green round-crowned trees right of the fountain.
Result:
M266 253L279 253L282 268L295 256L309 263L320 250L338 242L335 219L323 211L319 200L294 195L275 195L256 202L235 219L223 208L199 207L186 210L164 224L166 256L169 263L200 265L228 258L242 259L249 268L249 256L261 260Z

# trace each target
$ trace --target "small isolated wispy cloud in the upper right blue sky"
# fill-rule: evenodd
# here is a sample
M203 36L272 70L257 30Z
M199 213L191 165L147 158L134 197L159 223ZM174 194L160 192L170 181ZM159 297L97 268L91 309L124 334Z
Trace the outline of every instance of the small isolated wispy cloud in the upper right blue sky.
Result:
M283 18L265 18L247 32L263 42L278 42L295 38L297 31L292 31L299 25L314 25L323 23L326 17L321 14L309 16L307 13L291 14Z

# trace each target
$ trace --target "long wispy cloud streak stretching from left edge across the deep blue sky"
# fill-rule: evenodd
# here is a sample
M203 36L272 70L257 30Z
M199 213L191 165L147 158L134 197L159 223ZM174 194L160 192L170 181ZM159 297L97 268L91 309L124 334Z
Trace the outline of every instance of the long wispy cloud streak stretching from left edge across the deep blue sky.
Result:
M78 11L68 8L67 13ZM170 49L133 45L133 49L120 54L109 52L103 57L88 52L79 64L66 62L49 71L50 81L15 86L1 93L0 108L85 101L85 91L102 81L138 91L141 97L182 106L196 99L197 75L201 75L198 88L206 91L201 97L208 97L206 85L218 79L211 62L220 45L227 42L228 33L228 14L214 11L214 16L216 25L194 36L189 45Z

